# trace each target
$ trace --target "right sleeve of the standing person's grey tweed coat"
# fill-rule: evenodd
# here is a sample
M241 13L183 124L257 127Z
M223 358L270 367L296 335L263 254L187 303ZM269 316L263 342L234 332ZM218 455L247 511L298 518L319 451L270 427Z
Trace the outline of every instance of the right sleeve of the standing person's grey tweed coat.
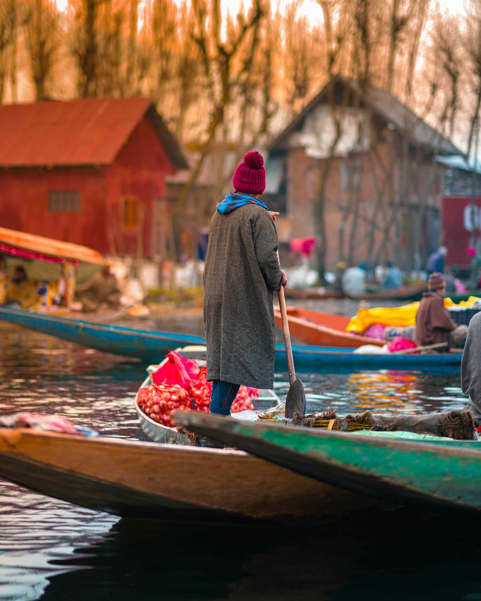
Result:
M280 290L284 276L276 255L279 241L274 221L266 210L262 210L254 216L252 236L257 263L267 286L271 290Z

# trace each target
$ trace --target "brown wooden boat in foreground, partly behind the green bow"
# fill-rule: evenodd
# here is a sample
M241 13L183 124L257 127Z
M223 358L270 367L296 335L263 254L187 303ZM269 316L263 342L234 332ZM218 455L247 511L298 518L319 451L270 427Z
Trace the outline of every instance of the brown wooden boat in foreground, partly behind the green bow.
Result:
M0 477L82 507L162 520L289 523L373 505L244 451L33 429L0 429Z

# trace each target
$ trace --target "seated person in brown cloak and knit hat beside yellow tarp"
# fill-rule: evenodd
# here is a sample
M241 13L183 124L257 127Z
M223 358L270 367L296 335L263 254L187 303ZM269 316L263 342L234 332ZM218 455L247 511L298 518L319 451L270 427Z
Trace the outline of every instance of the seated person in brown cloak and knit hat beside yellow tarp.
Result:
M442 273L431 273L416 315L414 342L420 346L449 343L459 346L466 340L468 326L458 326L444 307L446 282Z

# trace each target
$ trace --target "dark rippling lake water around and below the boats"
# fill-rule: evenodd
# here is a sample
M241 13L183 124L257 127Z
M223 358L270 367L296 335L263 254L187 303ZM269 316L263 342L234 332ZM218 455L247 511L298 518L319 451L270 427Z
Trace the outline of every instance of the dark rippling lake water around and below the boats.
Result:
M0 412L57 413L107 435L137 435L133 397L145 365L9 326L0 334ZM458 370L302 380L309 410L329 403L341 415L465 404ZM278 394L287 388L276 374ZM481 600L472 514L400 508L309 530L165 517L119 519L0 481L0 600Z

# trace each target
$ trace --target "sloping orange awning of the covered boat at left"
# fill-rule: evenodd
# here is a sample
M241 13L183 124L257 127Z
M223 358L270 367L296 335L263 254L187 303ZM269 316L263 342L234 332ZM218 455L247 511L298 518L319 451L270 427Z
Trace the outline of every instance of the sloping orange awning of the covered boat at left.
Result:
M61 240L54 240L44 236L35 236L35 234L26 234L23 231L7 230L4 227L0 227L0 242L17 246L18 248L25 248L33 252L41 252L44 255L51 255L52 257L85 261L86 263L96 265L105 263L100 252L87 248L87 246L72 244L71 242L61 242Z

